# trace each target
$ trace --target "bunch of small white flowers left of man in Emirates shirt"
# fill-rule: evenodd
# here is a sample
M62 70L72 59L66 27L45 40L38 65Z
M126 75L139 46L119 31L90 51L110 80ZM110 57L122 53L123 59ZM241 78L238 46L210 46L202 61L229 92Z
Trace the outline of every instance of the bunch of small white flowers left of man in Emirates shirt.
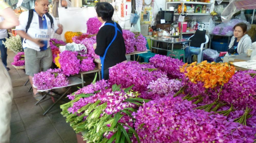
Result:
M10 49L14 53L22 52L22 42L19 35L14 36L12 33L9 33L10 37L5 38L6 41L3 41L3 44L6 48Z

